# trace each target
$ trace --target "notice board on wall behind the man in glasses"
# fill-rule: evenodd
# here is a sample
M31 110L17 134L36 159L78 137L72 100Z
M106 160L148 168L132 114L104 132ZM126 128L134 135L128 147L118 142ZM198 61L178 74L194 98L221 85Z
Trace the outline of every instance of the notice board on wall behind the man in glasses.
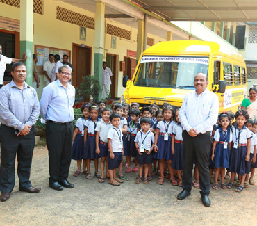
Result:
M58 49L55 47L46 47L43 45L35 45L34 53L38 56L37 66L39 74L43 74L44 62L48 60L49 54L59 54L60 61L63 61L63 55L65 54L69 56L69 60L71 56L71 51L68 49Z

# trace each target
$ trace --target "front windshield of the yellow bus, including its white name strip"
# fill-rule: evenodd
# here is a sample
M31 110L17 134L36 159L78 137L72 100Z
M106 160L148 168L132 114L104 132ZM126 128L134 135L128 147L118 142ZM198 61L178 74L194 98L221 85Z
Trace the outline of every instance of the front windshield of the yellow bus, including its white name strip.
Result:
M208 74L208 57L143 56L134 86L194 89L194 76Z

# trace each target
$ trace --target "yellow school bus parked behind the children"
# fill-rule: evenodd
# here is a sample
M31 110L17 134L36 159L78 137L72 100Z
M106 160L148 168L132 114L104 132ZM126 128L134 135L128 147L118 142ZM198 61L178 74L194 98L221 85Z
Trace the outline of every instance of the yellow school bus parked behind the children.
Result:
M219 97L219 112L238 110L247 97L247 71L238 53L215 42L178 40L159 42L140 56L121 102L138 102L140 107L164 102L181 106L185 93L194 90L194 76L208 75L208 90Z

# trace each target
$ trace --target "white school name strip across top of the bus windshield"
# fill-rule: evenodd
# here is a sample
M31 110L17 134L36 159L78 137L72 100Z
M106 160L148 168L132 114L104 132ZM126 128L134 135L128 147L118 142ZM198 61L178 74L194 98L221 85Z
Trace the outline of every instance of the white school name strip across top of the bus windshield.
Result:
M179 56L143 56L140 63L147 62L183 62L183 63L201 63L204 65L209 64L208 58L198 57L179 57Z

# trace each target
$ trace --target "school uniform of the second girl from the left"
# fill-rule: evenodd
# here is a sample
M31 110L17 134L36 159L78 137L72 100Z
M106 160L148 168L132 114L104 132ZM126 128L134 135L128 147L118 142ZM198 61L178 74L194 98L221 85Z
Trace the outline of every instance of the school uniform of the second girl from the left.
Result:
M97 123L99 120L97 119L96 122L89 118L85 122L85 128L88 128L87 140L85 141L84 150L83 150L83 159L98 159L95 144L95 136L94 136L94 129L97 127Z

